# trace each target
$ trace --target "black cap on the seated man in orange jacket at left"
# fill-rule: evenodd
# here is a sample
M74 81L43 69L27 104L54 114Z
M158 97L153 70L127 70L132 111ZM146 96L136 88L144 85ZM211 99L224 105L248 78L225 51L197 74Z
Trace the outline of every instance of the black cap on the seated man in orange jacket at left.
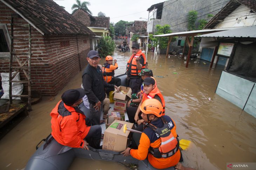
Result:
M79 99L83 98L84 96L84 89L69 89L62 94L61 99L66 105L70 106L77 102Z

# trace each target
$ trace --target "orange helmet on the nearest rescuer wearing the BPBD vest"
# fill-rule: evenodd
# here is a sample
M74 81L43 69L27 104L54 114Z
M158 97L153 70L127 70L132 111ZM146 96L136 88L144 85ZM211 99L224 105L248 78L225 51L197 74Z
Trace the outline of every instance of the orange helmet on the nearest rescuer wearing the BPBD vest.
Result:
M149 98L142 103L140 110L145 114L154 114L156 117L161 117L163 106L157 99Z

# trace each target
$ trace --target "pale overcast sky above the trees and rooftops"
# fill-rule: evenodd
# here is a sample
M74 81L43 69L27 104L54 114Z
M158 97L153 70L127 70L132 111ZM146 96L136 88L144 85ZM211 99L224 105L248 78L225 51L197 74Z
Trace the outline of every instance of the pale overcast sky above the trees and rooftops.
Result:
M83 2L84 0L81 0ZM90 2L88 9L92 12L93 16L101 11L110 17L110 22L117 23L123 21L146 21L148 19L147 9L156 3L163 2L164 0L87 0ZM65 10L72 13L72 5L76 0L54 0L58 5L65 7ZM149 16L152 15L152 12ZM140 19L146 18L146 19Z

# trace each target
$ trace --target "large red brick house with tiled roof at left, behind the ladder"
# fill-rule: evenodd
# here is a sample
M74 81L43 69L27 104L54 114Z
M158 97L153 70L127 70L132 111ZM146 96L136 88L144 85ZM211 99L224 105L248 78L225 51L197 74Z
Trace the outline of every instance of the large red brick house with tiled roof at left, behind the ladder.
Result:
M0 73L9 72L12 15L18 15L14 23L31 24L32 90L56 95L85 67L89 39L96 34L52 0L0 0ZM27 38L28 29L14 26L14 35ZM27 52L28 42L14 40L14 49L15 52ZM27 58L19 57L23 61ZM25 80L24 75L20 76Z

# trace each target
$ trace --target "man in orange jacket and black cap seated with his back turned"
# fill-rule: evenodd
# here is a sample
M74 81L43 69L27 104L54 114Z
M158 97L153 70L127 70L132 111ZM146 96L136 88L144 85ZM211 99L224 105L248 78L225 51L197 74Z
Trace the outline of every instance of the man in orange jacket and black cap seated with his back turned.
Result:
M85 96L83 89L70 89L50 113L53 138L61 145L89 150L88 146L100 148L101 127L90 126L89 118L78 109Z

